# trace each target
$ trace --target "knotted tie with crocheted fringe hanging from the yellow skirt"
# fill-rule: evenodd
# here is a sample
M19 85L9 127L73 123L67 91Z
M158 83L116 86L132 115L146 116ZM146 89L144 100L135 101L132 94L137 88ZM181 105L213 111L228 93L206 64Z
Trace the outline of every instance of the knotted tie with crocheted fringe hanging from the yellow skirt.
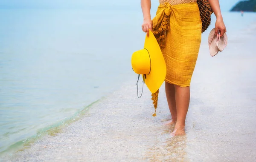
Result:
M153 34L157 39L160 48L165 47L166 33L170 30L170 15L172 13L172 5L169 3L160 4L157 14L153 18Z

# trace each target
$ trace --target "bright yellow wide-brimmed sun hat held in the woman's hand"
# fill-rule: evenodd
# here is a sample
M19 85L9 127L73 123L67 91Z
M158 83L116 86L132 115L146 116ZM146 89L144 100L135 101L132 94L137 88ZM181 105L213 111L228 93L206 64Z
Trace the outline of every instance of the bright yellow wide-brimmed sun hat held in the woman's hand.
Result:
M131 66L135 73L143 75L143 81L151 93L156 93L165 80L166 63L151 31L149 37L145 38L144 49L132 54Z

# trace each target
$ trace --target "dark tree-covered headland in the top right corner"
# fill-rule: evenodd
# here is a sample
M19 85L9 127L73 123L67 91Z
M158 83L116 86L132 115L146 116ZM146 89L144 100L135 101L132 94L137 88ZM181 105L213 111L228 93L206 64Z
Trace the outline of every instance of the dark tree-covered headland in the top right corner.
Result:
M237 3L230 11L256 12L256 0L244 0Z

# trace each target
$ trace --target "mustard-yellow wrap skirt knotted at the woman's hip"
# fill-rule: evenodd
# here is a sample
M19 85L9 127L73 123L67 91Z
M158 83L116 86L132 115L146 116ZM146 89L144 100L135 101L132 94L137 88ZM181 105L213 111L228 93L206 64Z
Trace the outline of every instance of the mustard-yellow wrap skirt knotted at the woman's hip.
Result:
M190 86L201 44L202 22L198 4L160 4L152 20L153 33L166 61L166 82Z

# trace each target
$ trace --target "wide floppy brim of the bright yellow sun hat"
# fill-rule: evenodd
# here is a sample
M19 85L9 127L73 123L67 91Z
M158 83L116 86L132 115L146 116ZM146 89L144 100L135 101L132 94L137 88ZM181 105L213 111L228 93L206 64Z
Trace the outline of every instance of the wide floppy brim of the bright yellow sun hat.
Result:
M151 59L151 71L146 74L145 84L152 94L163 84L166 77L166 63L162 51L154 34L149 31L149 37L145 38L144 48L148 50Z

